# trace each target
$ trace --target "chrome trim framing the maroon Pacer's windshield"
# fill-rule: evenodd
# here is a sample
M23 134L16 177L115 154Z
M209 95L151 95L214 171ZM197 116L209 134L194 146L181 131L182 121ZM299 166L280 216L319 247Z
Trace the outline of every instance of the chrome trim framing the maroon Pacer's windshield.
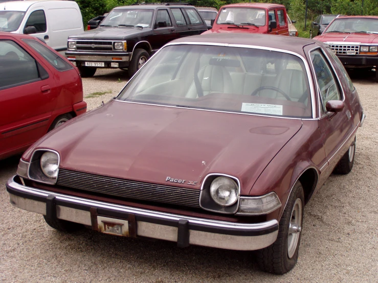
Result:
M308 84L309 84L309 87L310 87L310 95L311 95L311 102L312 102L312 118L296 118L296 117L280 117L280 116L269 116L269 115L260 115L260 114L250 114L250 113L237 113L237 112L229 112L229 111L220 111L220 110L208 110L208 109L197 109L197 108L190 108L190 107L179 107L179 106L167 106L167 105L160 105L160 104L152 104L152 103L141 103L141 102L129 102L129 101L122 101L122 100L118 100L117 96L115 98L116 101L119 101L119 102L125 102L125 103L135 103L135 104L143 104L143 105L152 105L152 106L162 106L162 107L172 107L172 108L185 108L185 109L193 109L193 110L202 110L202 111L212 111L212 112L221 112L221 113L232 113L232 114L242 114L242 115L255 115L255 116L264 116L264 117L274 117L274 118L279 118L279 119L296 119L296 120L317 120L316 118L316 110L315 110L315 90L314 90L314 84L311 84L310 82L313 81L312 79L312 75L310 73L310 69L309 69L309 65L308 65L308 62L306 61L306 59L298 54L298 53L295 53L295 52L292 52L292 51L287 51L287 50L283 50L283 49L276 49L276 48L267 48L267 47L263 47L263 46L256 46L256 45L244 45L244 44L231 44L231 43L212 43L212 42L170 42L170 43L167 43L165 44L158 52L154 53L150 59L152 59L155 55L157 55L161 50L163 50L165 47L167 46L171 46L171 45L186 45L186 44L190 44L190 45L212 45L212 46L229 46L229 47L237 47L237 48L251 48L251 49L260 49L260 50L268 50L268 51L277 51L277 52L282 52L282 53L287 53L287 54L291 54L291 55L294 55L294 56L297 56L299 57L303 63L304 63L304 66L306 68L306 73L307 73L307 78L308 78ZM134 75L136 76L139 71L141 69L143 69L144 66L146 66L151 60L148 60L139 70L138 72ZM132 81L132 79L134 78L134 76L132 76L128 82L126 83L126 85L121 89L121 91L119 92L122 93L122 91L125 89L125 87Z

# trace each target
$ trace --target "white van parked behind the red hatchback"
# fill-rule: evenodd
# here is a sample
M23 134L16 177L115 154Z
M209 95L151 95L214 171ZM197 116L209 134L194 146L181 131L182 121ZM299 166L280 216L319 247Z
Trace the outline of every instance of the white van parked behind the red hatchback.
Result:
M0 3L0 32L30 34L64 54L70 35L84 32L74 1L27 0Z

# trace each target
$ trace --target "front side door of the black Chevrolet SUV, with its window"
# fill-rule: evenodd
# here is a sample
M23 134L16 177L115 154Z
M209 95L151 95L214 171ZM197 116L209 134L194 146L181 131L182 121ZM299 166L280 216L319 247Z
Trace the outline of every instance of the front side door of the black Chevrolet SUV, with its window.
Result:
M172 25L168 9L158 9L155 13L153 36L150 41L152 50L160 49L176 37L176 28Z

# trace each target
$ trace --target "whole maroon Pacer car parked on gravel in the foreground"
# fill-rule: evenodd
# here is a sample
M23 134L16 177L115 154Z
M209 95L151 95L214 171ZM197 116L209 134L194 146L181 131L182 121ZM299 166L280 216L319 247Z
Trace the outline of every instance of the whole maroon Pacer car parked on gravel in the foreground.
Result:
M322 43L186 37L113 101L39 140L7 190L55 229L258 250L261 268L282 274L298 259L304 205L352 169L364 117Z

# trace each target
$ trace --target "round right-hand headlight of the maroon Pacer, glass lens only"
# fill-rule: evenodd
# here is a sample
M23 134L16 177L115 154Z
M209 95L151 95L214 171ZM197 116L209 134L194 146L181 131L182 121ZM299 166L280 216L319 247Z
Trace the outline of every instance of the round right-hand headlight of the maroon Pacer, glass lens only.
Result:
M217 177L210 185L210 196L221 206L231 206L238 199L238 185L229 177Z

